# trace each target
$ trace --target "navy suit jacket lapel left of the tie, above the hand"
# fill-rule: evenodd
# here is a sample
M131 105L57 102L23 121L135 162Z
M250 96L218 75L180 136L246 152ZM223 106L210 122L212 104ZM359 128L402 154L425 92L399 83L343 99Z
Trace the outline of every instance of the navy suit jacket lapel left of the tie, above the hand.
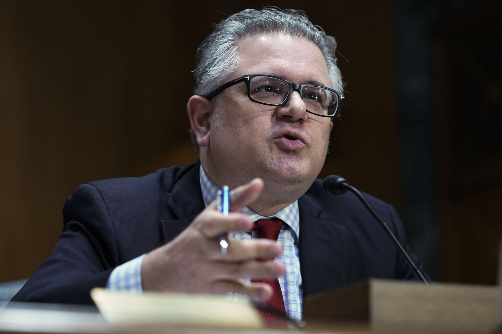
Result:
M169 242L181 233L205 208L199 181L200 162L188 166L178 176L171 196L167 202L173 219L161 220L164 242Z

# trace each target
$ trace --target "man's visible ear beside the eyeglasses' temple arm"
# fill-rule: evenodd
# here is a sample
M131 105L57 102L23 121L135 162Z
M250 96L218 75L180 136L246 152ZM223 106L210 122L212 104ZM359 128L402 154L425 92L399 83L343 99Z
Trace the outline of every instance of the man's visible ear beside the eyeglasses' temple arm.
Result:
M209 130L211 129L209 117L213 114L213 104L202 96L193 95L188 100L187 112L197 143L201 147L209 145Z

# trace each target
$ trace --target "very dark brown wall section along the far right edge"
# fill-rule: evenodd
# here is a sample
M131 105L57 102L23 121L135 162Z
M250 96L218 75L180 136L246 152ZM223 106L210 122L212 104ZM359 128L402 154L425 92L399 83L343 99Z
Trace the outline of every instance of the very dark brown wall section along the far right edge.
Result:
M502 3L445 21L435 44L442 278L493 284L502 265Z

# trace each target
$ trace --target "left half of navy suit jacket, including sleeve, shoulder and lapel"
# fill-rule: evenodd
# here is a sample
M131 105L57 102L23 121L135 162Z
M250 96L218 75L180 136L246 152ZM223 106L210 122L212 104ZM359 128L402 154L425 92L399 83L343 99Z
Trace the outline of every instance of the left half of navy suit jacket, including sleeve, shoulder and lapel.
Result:
M49 259L12 300L92 304L90 290L105 287L114 268L172 240L203 208L198 161L81 185Z

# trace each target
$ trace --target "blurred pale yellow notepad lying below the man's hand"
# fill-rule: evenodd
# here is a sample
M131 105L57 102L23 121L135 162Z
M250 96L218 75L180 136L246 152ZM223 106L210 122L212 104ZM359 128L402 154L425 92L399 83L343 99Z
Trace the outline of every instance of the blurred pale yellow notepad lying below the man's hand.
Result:
M114 324L263 328L260 314L237 294L91 290L91 297L106 321Z

